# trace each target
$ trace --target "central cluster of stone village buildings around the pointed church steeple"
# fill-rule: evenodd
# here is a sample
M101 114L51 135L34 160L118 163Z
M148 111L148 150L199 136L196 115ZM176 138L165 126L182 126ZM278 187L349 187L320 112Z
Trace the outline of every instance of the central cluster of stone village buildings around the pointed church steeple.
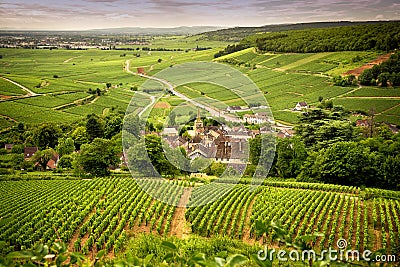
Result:
M205 126L198 111L193 130L187 135L179 132L178 126L165 127L161 133L171 148L182 147L191 160L202 157L216 162L229 164L247 164L249 140L260 134L276 134L279 138L293 136L291 128L280 129L276 133L265 113L246 114L246 125L258 124L259 129L247 129L243 124L231 128L223 125Z

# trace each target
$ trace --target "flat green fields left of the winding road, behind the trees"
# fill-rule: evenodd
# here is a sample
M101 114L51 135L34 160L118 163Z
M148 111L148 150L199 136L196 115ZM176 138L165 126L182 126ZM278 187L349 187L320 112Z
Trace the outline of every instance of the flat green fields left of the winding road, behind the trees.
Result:
M80 116L102 114L106 108L117 108L125 112L135 94L131 89L139 87L145 79L123 71L126 59L133 69L143 67L155 73L171 64L190 60L209 60L213 51L200 52L131 52L123 56L119 51L67 51L1 49L3 60L0 72L4 77L17 82L38 95L21 98L26 92L18 86L1 79L1 115L11 120L1 123L8 127L14 121L39 123L63 122L79 119ZM158 63L158 59L163 61ZM29 74L28 74L29 73ZM108 88L106 84L111 86ZM89 89L100 88L100 96L91 95ZM138 110L150 103L150 95L137 96ZM27 107L35 113L22 111ZM39 112L40 110L40 112Z

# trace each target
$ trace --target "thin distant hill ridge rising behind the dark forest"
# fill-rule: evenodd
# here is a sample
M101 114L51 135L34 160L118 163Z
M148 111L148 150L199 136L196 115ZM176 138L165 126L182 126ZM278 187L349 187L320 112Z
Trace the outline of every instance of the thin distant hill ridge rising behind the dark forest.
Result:
M220 29L216 31L206 32L202 34L201 38L214 41L238 42L249 35L263 33L263 32L281 32L290 30L331 28L340 26L371 25L371 24L380 24L389 22L393 21L336 21L336 22L276 24L276 25L265 25L260 27L234 27L234 28Z

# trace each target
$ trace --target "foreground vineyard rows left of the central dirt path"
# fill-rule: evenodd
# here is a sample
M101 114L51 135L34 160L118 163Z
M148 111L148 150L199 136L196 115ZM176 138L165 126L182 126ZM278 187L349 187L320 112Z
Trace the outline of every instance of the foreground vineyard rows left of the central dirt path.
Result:
M178 203L181 193L171 187L158 181L147 186ZM133 179L10 181L0 183L0 192L0 240L17 250L61 239L85 254L119 251L133 229L168 234L175 211Z

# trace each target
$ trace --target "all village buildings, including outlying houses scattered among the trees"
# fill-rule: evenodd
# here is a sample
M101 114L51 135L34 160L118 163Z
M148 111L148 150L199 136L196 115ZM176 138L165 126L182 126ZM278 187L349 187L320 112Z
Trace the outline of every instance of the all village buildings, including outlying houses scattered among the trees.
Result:
M307 104L302 102L298 103L294 110L304 111L306 108ZM246 107L232 106L228 107L226 112L235 113L244 109ZM202 157L221 163L245 165L249 158L250 139L260 134L276 134L278 138L290 138L295 133L292 127L276 125L272 127L270 118L264 112L245 114L242 121L246 125L259 125L259 127L256 130L250 130L244 124L232 128L222 125L206 126L198 112L193 130L188 131L188 135L183 136L180 134L178 126L165 127L161 133L157 134L162 136L171 148L184 148L187 157L191 160ZM13 144L5 144L4 148L6 151L11 152ZM25 146L23 149L24 160L31 160L38 151L39 148L36 146ZM124 154L121 153L118 156L120 164L112 166L112 169L120 169L126 166ZM46 165L46 170L56 170L59 159L60 156L54 151ZM43 166L38 162L34 163L34 168L39 171L44 170Z

